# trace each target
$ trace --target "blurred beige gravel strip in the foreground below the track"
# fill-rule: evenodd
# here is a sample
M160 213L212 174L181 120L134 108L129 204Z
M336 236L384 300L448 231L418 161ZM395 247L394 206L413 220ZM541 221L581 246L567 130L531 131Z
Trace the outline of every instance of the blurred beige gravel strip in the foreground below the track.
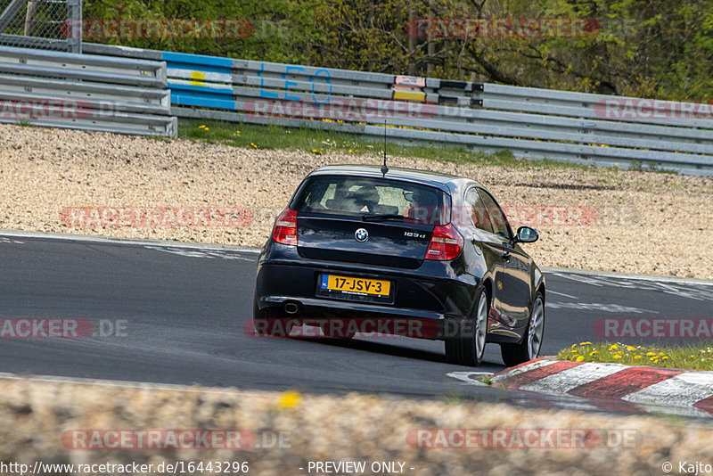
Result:
M710 464L713 445L713 432L707 427L645 415L534 411L504 404L454 405L356 394L286 397L233 389L157 390L24 379L0 379L0 386L0 461L30 467L36 461L154 465L237 461L248 462L250 474L282 475L307 474L309 461L347 459L406 462L405 473L414 476L635 476L660 474L665 461L674 465L676 474L679 462ZM512 439L505 440L507 448L425 448L407 439L414 430L423 429L578 430L607 436L587 438L585 448L552 447L552 443L545 443L546 448L517 447ZM77 437L77 431L106 435L94 432L98 430L247 431L261 447L135 449L125 442L129 449L102 448L116 444L115 437ZM282 443L275 443L275 435L283 436ZM617 435L626 435L624 442ZM75 449L81 442L93 448ZM158 444L167 443L168 439L161 439ZM561 444L568 443L562 439ZM300 467L304 470L299 471Z

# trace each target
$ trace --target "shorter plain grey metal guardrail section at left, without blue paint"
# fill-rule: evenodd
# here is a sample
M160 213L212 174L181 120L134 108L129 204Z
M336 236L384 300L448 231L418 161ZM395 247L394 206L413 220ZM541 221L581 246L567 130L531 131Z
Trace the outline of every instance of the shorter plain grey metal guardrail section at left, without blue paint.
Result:
M0 122L175 137L165 62L0 47Z

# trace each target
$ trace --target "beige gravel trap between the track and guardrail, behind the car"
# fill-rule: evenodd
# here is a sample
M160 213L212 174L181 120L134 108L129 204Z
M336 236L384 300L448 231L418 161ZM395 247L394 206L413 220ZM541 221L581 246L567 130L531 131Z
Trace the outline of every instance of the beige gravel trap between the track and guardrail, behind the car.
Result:
M0 228L261 246L275 212L307 172L324 164L378 161L0 126ZM539 207L539 217L529 223L542 239L525 246L543 266L713 279L713 178L541 167L535 161L520 168L389 161L475 178L502 205L524 206L513 210L526 220ZM208 228L61 223L67 207L167 206L249 207L254 219L250 226ZM553 219L566 221L562 213L573 217L578 207L593 208L594 223L575 217L574 226L550 226Z

